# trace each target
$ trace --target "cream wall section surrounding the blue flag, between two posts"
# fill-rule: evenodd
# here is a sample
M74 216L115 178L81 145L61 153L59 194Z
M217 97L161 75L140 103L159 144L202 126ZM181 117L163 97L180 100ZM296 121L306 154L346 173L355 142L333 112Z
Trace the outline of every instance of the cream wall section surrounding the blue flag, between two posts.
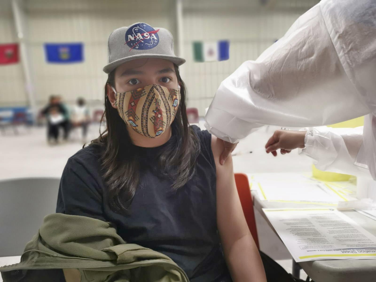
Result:
M78 96L103 103L107 75L107 41L112 30L144 21L174 30L173 0L150 1L56 1L27 2L30 51L35 70L35 88L43 103L51 94L61 94L68 103ZM146 8L147 7L147 8ZM83 42L84 63L48 64L45 42Z

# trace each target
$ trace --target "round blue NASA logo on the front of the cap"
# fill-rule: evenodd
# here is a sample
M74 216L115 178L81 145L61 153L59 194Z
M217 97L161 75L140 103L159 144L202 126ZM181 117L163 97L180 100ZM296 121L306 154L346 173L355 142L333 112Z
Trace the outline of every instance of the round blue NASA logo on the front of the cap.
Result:
M125 33L125 44L129 51L152 49L159 43L158 31L146 23L133 24Z

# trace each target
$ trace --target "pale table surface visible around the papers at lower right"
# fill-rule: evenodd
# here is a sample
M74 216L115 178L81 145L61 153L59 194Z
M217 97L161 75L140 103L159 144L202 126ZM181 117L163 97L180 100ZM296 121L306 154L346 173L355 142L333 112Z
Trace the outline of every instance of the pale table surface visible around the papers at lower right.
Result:
M323 208L323 205L305 205L296 203L268 202L259 199L253 193L253 205L275 232L270 221L262 211L263 208ZM330 207L330 206L328 206ZM330 208L333 208L332 206ZM355 220L365 230L376 235L376 221L359 214L356 211L344 211L348 217ZM374 282L376 281L375 259L352 260L319 260L299 262L303 270L315 282Z

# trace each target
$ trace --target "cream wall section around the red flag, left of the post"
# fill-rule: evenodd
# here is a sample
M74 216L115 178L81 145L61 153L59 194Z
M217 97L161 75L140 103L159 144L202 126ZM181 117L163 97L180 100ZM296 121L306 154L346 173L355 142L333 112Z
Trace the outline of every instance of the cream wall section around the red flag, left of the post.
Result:
M0 1L0 44L16 43L11 0ZM0 65L0 106L25 105L25 82L20 62Z

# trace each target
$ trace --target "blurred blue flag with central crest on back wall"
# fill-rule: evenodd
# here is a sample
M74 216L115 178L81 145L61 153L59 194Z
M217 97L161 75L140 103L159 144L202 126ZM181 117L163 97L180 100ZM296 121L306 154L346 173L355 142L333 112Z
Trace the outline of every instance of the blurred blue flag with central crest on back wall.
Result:
M46 60L49 63L76 63L83 61L82 43L45 43Z

